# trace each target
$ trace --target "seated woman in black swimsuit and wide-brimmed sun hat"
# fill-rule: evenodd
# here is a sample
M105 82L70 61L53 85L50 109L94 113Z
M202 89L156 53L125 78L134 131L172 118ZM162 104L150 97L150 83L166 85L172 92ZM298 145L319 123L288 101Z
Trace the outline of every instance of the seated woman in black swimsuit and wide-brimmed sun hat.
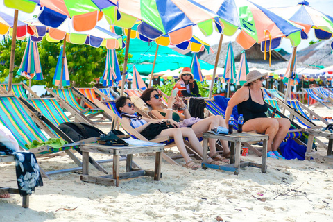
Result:
M290 128L289 119L267 118L265 112L268 108L264 101L262 82L267 74L261 74L257 70L250 71L246 76L246 83L232 96L225 110L225 123L232 113L232 108L238 105L238 113L243 114L243 131L253 131L268 134L267 156L275 159L282 158L278 153L278 148L286 137Z

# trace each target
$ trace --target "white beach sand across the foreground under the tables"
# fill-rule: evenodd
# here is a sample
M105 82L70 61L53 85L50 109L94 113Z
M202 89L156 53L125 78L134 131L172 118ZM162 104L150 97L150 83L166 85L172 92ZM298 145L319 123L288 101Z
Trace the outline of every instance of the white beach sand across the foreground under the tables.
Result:
M327 108L316 112L333 116ZM325 153L325 148L318 148L318 155ZM143 169L153 170L153 155L133 158ZM242 160L261 162L255 155ZM46 171L76 167L67 156L38 162ZM44 178L29 209L22 208L19 195L0 199L0 221L216 221L216 216L224 221L333 221L333 162L269 158L267 164L266 174L246 167L234 176L213 169L191 171L163 161L162 180L133 178L121 180L119 187L81 182L80 174L64 173ZM103 167L112 171L112 163ZM121 162L121 171L124 167ZM90 174L102 175L91 165L89 169ZM15 164L1 163L0 171L1 185L17 187ZM288 196L279 196L287 192Z

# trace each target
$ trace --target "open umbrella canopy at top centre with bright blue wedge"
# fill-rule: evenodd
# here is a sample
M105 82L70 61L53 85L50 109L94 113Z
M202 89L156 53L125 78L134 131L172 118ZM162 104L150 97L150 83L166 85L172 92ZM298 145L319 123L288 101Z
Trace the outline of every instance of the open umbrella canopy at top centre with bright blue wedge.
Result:
M140 34L151 40L169 34L174 45L190 40L194 25L204 35L211 35L212 19L217 17L214 12L184 0L119 0L119 12L121 19L114 19L114 26L131 28L139 19L142 21L137 26Z

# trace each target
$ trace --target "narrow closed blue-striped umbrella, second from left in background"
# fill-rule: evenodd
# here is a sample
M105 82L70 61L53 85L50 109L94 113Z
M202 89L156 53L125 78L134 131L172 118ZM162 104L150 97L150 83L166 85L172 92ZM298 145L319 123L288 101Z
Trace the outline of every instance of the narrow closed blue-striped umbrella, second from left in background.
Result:
M57 62L57 67L56 67L56 72L54 73L54 77L53 77L53 85L60 85L60 81L62 79L62 86L69 86L71 85L71 83L69 82L69 72L68 72L68 65L67 65L67 58L66 58L66 53L65 58L64 58L64 69L62 69L62 51L63 51L63 47L60 46L60 54L59 54L59 58L58 58L58 62ZM62 75L62 78L61 78Z

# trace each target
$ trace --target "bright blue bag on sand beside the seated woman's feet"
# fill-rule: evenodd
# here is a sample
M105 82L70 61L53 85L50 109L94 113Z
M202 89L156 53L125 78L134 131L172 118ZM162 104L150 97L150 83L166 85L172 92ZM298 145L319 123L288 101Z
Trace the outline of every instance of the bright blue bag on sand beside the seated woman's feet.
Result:
M287 142L282 142L280 144L280 151L286 160L292 160L296 158L298 160L305 160L307 146L300 145L293 139L288 139Z

